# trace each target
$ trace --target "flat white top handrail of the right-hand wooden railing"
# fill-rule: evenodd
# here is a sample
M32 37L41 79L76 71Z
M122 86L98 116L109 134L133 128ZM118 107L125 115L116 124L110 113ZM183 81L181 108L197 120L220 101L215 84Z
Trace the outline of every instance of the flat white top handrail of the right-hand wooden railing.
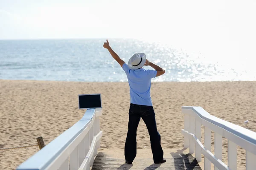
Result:
M256 145L256 133L251 130L248 130L239 125L235 125L233 123L227 122L225 120L219 119L218 117L212 116L201 107L182 106L182 109L192 110L194 111L194 113L200 116L201 119L211 122L212 124L218 127L221 127L229 131L230 133L233 133L234 135L239 136L240 138Z

